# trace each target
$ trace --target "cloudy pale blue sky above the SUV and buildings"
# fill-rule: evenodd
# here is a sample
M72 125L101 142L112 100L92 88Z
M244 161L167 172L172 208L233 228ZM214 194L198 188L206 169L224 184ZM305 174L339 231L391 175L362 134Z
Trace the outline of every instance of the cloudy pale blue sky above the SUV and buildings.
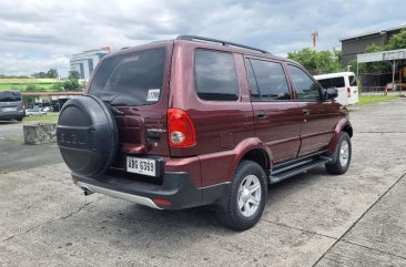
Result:
M84 50L113 51L193 34L258 47L274 54L406 25L404 0L0 0L0 74L70 70Z

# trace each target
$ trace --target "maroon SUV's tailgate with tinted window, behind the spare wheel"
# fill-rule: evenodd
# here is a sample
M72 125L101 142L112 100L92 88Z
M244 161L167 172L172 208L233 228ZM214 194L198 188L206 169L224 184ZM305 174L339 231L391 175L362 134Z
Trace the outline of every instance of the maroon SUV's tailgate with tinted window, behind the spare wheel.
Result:
M166 130L173 42L126 49L102 60L89 94L112 106L123 154L169 156Z

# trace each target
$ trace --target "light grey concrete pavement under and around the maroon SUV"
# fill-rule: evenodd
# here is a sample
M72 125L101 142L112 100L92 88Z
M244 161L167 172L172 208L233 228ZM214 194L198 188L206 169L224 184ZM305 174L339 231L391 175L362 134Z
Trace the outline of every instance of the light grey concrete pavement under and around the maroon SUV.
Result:
M84 197L63 163L0 175L0 266L406 266L406 100L353 109L353 161L270 187L252 229Z

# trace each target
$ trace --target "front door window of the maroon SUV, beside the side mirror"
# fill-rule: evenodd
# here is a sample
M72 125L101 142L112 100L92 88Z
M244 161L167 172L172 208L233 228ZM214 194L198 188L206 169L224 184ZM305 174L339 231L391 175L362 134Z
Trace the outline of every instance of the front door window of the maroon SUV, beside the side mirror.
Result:
M293 83L297 91L298 100L319 101L321 88L307 75L306 72L294 65L287 65Z

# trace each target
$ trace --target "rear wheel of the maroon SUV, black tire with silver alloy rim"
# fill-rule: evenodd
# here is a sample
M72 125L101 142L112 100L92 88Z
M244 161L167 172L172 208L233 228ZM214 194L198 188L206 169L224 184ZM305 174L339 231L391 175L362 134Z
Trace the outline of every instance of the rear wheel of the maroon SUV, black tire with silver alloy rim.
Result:
M254 178L254 176L256 177L256 179ZM241 188L244 186L257 185L257 182L260 184L260 194L257 193L257 191L251 193L248 188L244 188L243 191L241 191ZM238 196L241 201L240 203L244 203L243 198L248 197L250 201L252 201L253 198L258 199L258 204L251 203L252 206L250 206L248 199L245 199L246 204L244 204L243 207L240 208ZM223 203L223 207L221 208L221 210L217 212L219 220L223 225L235 230L248 229L260 220L264 212L266 197L267 185L264 170L255 162L242 161L234 172L229 193L225 194L223 196L223 199L221 201L221 203ZM245 208L246 205L248 207L247 209ZM251 215L250 210L252 212Z

